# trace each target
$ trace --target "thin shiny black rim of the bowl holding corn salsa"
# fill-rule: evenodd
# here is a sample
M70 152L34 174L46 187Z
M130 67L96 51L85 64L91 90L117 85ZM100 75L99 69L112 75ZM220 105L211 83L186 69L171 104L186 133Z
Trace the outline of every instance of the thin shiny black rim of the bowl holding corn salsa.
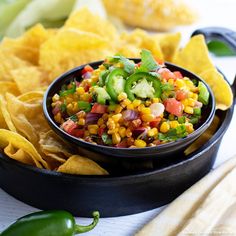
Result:
M129 58L129 59L130 60L134 60L134 61L140 61L141 60L140 58ZM69 77L71 74L76 73L79 70L82 70L84 68L84 66L86 66L86 65L91 65L93 67L94 65L96 65L96 66L97 65L101 65L103 61L104 60L99 60L99 61L83 64L83 65L77 66L77 67L75 67L75 68L73 68L73 69L71 69L71 70L61 74L60 76L58 76L48 86L48 88L47 88L47 90L46 90L46 92L44 94L44 97L43 97L43 112L44 112L45 118L48 121L48 123L51 126L53 126L53 128L55 130L57 130L58 133L62 133L64 136L68 136L70 139L75 140L74 142L80 142L83 145L83 147L93 147L93 148L97 147L97 148L103 148L103 149L105 149L107 151L112 151L112 150L115 150L115 149L116 150L119 149L121 151L125 150L125 151L127 151L129 153L136 152L137 148L120 148L120 147L117 148L117 147L93 144L93 143L86 142L83 139L76 138L76 137L66 133L64 130L60 129L60 127L55 123L55 121L51 118L51 116L49 114L48 105L47 105L47 103L48 103L48 96L49 96L50 91L57 85L57 83L59 83L62 80L65 80L64 82L66 82L67 80L71 80L70 78L68 78L68 79L66 79L66 78ZM168 142L168 143L164 143L164 144L161 144L161 145L158 145L158 146L141 148L141 150L144 151L144 152L148 151L148 150L155 150L155 149L158 150L158 151L161 151L162 149L171 148L173 146L179 145L183 141L191 139L192 137L194 137L196 135L196 133L200 132L205 126L210 125L210 123L212 122L212 120L214 118L214 114L215 114L215 111L216 111L216 101L215 101L215 97L213 95L213 92L212 92L211 88L209 87L209 85L201 77L199 77L195 73L193 73L193 72L191 72L191 71L189 71L189 70L187 70L185 68L182 68L182 67L180 67L180 66L178 66L176 64L169 63L169 62L165 62L164 64L167 65L167 66L176 67L177 69L179 69L181 71L189 73L193 77L196 77L199 81L204 83L204 85L208 89L208 92L209 92L210 98L211 98L211 102L212 102L211 112L210 112L209 116L207 117L207 119L203 122L203 124L201 126L199 126L196 130L194 130L194 132L192 132L191 134L188 134L186 137L177 139L176 141L171 141L171 142ZM140 150L140 148L138 150Z

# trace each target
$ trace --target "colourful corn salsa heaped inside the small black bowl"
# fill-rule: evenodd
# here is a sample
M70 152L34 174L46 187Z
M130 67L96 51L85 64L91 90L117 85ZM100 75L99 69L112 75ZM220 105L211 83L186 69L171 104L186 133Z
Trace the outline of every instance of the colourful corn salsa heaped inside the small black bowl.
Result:
M121 55L81 75L52 98L54 120L84 141L118 148L143 148L176 141L192 133L208 104L201 81L170 71L142 50L135 63Z

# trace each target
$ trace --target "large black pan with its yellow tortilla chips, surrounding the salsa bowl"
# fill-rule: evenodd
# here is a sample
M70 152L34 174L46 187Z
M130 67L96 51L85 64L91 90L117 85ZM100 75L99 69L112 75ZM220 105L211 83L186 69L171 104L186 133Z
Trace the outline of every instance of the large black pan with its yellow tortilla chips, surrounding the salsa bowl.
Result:
M202 35L179 48L180 33L119 33L87 9L60 29L37 24L0 44L0 186L42 209L60 208L89 216L138 213L166 204L212 167L233 114L233 95L208 55ZM203 78L212 88L216 115L209 129L175 160L106 163L68 146L48 126L43 95L59 75L76 66L121 53L139 57L146 48ZM193 56L194 55L194 56ZM132 187L131 187L132 186ZM114 209L116 206L116 209Z

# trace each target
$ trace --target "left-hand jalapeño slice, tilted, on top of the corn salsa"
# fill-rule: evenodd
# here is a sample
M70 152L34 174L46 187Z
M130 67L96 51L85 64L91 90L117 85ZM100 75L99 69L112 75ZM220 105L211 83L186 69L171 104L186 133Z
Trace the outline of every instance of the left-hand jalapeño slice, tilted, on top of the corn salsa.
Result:
M114 69L106 78L106 90L111 99L115 102L118 101L119 93L124 91L125 78L128 73L121 68Z

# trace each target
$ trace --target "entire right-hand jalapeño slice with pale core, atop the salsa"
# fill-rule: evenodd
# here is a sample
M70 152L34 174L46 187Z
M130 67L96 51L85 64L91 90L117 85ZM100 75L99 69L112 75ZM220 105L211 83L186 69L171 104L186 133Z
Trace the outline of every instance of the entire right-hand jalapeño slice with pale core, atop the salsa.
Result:
M141 83L139 84L139 82ZM136 72L126 80L125 92L131 101L135 99L135 95L141 98L159 98L161 96L161 81L158 76L148 72Z

